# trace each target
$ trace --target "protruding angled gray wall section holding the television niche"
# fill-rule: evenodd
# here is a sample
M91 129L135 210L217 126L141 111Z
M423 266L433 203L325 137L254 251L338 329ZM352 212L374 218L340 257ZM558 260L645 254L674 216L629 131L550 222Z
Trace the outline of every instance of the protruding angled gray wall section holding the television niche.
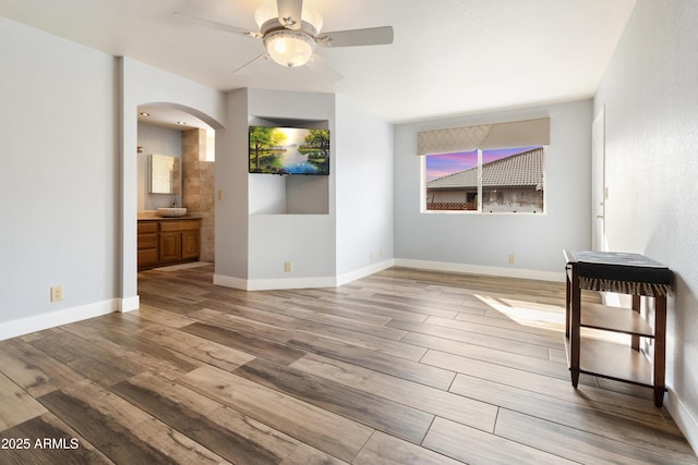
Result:
M248 123L262 120L326 125L330 175L249 174ZM229 93L227 121L216 133L217 284L333 286L392 265L390 124L330 94L262 89Z

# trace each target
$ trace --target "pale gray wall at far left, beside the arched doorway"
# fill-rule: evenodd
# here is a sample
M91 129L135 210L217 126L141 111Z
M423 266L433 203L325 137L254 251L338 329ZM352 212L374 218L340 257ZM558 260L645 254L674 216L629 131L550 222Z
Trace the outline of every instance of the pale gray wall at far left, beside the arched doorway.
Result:
M0 62L4 339L113 310L119 138L113 57L0 17Z

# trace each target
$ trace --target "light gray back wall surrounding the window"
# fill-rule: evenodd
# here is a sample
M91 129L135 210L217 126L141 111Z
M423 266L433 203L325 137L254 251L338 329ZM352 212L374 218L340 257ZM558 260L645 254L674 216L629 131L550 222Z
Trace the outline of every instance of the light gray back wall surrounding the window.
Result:
M420 211L424 187L418 132L544 117L551 120L544 215ZM591 244L591 122L592 101L586 99L396 126L398 264L562 280L562 250ZM508 262L509 255L515 255L515 264Z

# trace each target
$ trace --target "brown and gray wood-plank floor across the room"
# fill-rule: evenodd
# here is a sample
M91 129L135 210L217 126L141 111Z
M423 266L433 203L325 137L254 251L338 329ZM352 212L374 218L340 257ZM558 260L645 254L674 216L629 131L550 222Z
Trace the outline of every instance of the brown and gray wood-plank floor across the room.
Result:
M139 311L0 342L0 463L698 464L650 390L571 388L562 283L212 274L144 271Z

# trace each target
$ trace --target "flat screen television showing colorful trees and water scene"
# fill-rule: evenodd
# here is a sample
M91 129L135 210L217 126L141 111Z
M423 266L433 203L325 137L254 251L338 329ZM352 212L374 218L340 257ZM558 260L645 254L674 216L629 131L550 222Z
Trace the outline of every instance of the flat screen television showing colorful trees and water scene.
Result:
M250 126L250 172L329 174L329 130Z

